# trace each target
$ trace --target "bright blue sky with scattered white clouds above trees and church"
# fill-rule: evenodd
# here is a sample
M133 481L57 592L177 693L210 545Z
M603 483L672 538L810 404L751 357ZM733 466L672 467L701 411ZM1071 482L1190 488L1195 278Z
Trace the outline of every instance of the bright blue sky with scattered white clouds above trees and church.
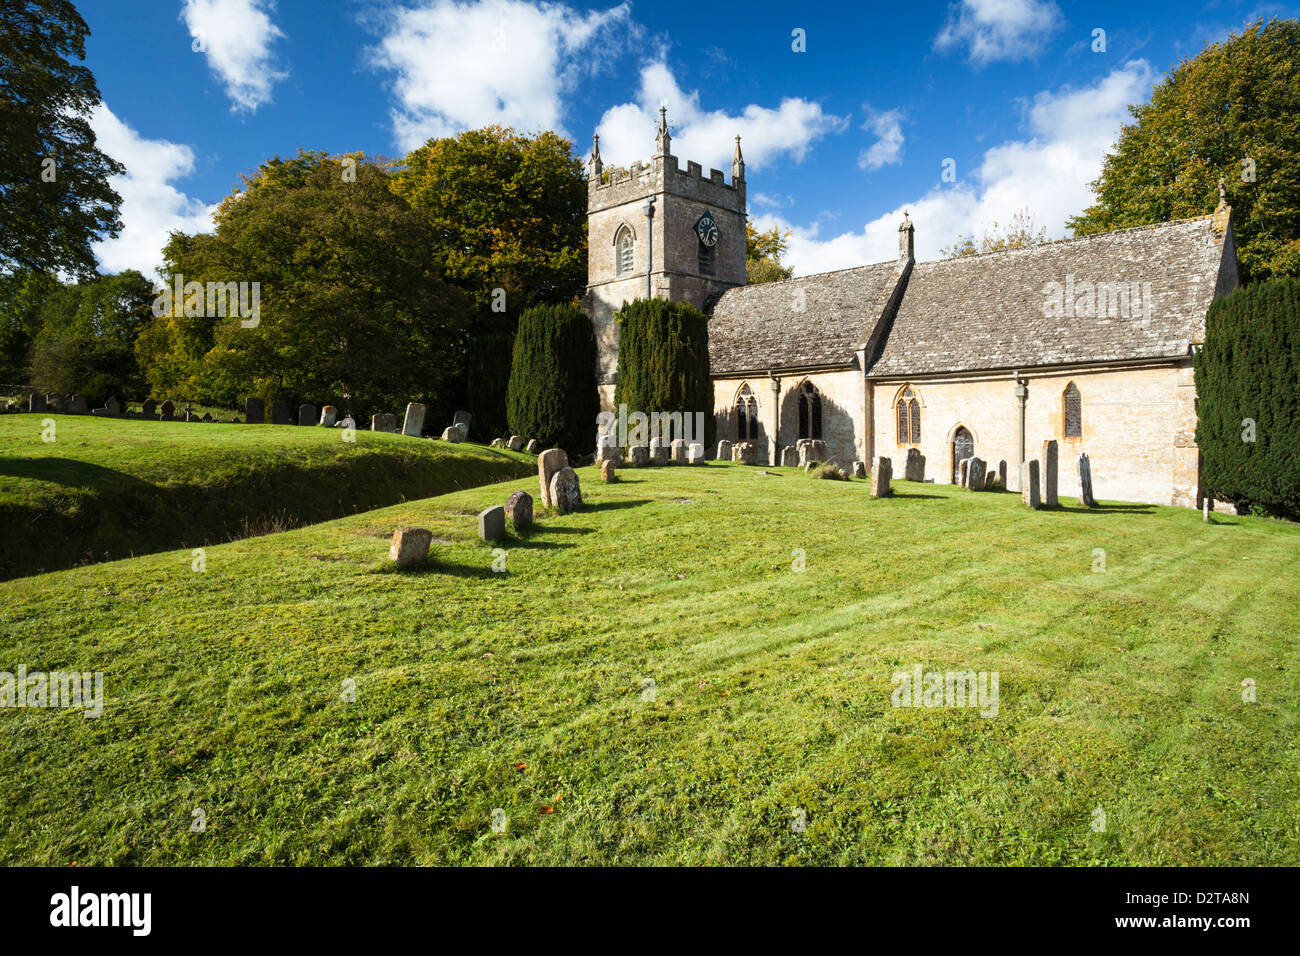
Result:
M584 156L598 130L604 160L627 164L653 152L660 103L682 161L729 174L742 135L750 215L792 232L801 274L892 258L905 208L922 259L1018 209L1060 237L1128 104L1256 16L1300 12L1235 0L77 5L104 99L94 125L127 166L116 183L126 228L98 252L107 271L147 274L169 229L209 229L211 208L269 156L402 156L502 122L556 129Z

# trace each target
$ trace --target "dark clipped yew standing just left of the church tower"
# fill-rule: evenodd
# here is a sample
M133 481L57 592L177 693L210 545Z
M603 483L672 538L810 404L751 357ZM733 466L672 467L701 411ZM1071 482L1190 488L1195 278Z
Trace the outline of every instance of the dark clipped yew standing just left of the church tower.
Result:
M534 306L519 317L506 390L512 433L580 455L595 447L595 332L577 306Z

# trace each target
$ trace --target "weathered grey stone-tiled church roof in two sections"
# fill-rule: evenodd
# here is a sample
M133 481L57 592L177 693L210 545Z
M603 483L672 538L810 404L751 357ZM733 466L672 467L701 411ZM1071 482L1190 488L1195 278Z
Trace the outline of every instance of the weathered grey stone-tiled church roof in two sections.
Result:
M1178 220L963 259L916 263L883 316L898 263L727 290L712 310L714 375L850 365L884 319L867 375L913 376L1187 355L1204 339L1223 259L1214 217ZM1150 315L1048 317L1044 287L1150 284ZM792 310L803 289L806 311ZM892 319L892 323L890 323Z

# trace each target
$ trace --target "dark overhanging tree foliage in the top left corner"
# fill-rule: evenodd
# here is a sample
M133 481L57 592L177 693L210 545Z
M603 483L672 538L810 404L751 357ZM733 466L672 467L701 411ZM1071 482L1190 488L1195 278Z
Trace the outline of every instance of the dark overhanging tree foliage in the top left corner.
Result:
M0 0L0 274L95 274L91 243L122 228L95 146L88 29L68 0Z

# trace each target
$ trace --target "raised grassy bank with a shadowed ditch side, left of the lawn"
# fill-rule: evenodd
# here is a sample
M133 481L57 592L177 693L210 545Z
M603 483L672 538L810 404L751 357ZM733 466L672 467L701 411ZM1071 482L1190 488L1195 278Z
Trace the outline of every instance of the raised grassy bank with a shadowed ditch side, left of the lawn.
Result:
M42 440L55 420L56 441ZM291 425L0 416L0 579L194 548L532 473L530 455Z

